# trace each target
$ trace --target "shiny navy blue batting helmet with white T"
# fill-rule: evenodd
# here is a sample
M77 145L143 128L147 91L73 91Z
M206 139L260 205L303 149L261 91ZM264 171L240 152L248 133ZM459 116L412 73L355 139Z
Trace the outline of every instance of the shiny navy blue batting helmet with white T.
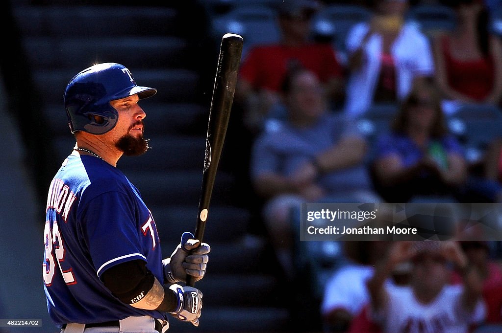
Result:
M72 133L103 134L117 123L118 113L110 101L138 94L140 99L157 93L141 87L126 67L116 63L91 66L78 73L66 86L64 105Z

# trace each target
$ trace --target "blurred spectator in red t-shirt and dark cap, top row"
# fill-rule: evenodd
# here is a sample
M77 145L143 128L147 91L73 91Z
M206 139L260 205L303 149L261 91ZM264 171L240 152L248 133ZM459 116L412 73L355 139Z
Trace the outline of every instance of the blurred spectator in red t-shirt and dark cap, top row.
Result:
M244 125L249 130L261 131L264 120L273 112L283 116L279 92L290 67L300 64L314 72L328 101L342 98L343 69L335 51L330 44L310 40L311 19L318 7L313 0L283 0L278 9L281 41L253 47L243 55L235 101L242 105Z

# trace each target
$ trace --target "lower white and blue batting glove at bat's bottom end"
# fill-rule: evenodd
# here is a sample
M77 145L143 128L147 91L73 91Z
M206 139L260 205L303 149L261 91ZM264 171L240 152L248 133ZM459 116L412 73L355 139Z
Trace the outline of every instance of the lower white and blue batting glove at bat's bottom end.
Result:
M179 284L172 284L169 289L176 292L178 297L178 307L170 313L180 320L190 321L194 326L198 326L202 310L202 291Z

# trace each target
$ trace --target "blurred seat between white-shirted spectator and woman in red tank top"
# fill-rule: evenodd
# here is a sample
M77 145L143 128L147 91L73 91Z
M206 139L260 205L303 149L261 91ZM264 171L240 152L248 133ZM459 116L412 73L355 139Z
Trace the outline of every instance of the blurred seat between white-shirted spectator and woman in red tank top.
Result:
M443 5L415 5L406 15L406 21L416 22L429 37L455 29L456 15L453 9Z

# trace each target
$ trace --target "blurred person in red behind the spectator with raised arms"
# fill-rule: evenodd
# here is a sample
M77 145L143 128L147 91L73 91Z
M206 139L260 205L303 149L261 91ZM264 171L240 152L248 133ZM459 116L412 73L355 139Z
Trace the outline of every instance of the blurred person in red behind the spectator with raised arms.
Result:
M486 303L486 323L502 323L502 267L489 257L486 241L462 241L461 248L470 264L482 278L482 297ZM455 272L453 284L463 283L462 276Z

